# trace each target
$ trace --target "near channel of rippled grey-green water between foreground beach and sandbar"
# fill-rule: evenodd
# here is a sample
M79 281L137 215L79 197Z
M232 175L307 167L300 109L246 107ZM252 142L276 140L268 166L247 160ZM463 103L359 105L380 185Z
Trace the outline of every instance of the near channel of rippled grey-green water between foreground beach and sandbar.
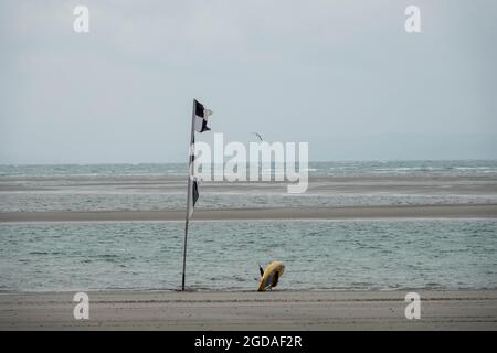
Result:
M0 291L181 284L182 222L0 224ZM497 288L497 220L211 221L190 226L187 286L255 290Z

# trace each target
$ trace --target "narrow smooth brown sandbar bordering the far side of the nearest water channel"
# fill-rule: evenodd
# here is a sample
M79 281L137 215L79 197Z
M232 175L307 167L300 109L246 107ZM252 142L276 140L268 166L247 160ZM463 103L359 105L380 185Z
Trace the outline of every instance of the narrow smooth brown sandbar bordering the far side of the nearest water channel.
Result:
M184 211L1 212L0 223L184 221ZM192 221L497 218L497 204L195 210Z

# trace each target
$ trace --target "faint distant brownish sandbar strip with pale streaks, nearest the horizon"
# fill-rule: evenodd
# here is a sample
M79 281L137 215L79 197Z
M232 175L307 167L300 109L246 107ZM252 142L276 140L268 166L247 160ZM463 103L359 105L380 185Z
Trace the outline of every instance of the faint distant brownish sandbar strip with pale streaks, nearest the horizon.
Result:
M184 176L173 175L59 175L0 176L0 192L144 192L186 193ZM327 194L470 194L496 195L494 175L309 175L309 195ZM285 181L202 181L203 192L215 193L286 193Z

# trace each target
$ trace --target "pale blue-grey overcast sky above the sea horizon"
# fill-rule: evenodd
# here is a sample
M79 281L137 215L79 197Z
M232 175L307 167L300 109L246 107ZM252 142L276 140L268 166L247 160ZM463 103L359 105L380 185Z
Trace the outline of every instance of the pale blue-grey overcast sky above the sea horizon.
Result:
M491 0L2 0L0 163L186 162L193 98L315 161L497 159L496 40Z

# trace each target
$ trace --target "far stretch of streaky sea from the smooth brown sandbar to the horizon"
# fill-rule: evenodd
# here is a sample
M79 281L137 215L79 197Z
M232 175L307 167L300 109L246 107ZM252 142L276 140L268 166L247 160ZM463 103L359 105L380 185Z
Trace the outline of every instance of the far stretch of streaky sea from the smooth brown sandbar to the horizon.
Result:
M497 203L497 161L311 162L308 172L304 194L201 183L198 207ZM0 212L183 210L186 173L182 163L0 165Z

